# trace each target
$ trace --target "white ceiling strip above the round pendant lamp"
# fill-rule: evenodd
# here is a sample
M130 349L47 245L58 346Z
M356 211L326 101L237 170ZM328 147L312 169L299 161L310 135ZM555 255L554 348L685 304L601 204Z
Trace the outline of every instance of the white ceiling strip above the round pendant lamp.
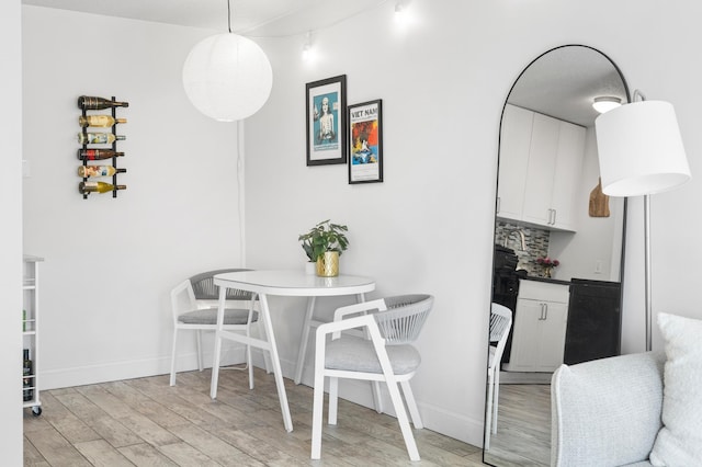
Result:
M231 30L291 36L330 26L387 0L230 0ZM24 4L227 31L227 0L22 0Z

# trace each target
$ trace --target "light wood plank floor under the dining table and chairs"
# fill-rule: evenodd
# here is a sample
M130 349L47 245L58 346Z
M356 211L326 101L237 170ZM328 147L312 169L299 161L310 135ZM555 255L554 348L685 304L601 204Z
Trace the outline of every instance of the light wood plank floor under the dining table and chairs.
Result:
M422 457L410 463L396 419L339 401L325 425L322 459L309 459L313 391L285 379L294 431L286 433L272 375L223 371L43 391L43 413L24 414L25 466L480 466L482 449L415 430ZM326 409L325 409L326 411Z

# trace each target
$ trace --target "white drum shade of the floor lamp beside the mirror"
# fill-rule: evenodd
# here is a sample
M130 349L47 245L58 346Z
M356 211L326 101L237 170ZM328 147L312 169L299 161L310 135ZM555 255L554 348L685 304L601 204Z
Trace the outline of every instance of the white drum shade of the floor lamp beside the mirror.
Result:
M690 180L678 119L668 102L639 101L595 121L602 192L638 196Z

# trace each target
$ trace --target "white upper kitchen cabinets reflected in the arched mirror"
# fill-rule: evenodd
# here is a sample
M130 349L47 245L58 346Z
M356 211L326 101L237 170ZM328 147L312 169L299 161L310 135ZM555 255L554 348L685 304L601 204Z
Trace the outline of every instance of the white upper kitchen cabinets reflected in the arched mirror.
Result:
M509 104L503 119L497 216L575 231L585 128Z

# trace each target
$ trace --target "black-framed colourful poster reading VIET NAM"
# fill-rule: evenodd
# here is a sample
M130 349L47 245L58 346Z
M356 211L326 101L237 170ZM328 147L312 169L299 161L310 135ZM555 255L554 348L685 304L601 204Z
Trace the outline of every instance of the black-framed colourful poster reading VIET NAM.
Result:
M349 105L349 183L383 181L383 101Z

